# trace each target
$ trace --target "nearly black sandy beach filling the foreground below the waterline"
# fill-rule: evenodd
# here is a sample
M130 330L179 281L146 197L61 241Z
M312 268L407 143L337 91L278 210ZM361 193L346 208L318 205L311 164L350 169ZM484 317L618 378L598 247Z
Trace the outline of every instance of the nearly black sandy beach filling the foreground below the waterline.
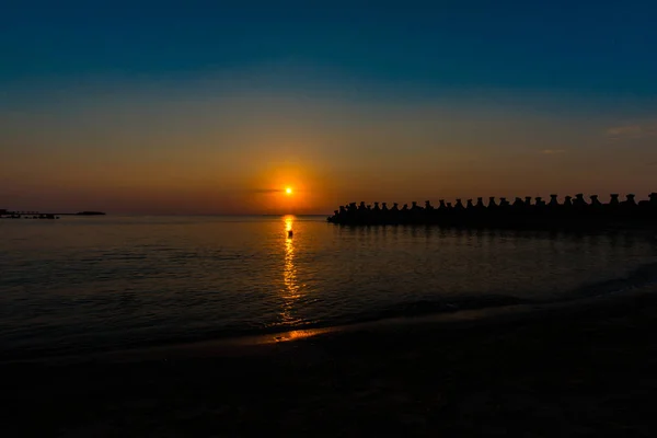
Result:
M657 293L203 348L5 364L1 434L657 436Z

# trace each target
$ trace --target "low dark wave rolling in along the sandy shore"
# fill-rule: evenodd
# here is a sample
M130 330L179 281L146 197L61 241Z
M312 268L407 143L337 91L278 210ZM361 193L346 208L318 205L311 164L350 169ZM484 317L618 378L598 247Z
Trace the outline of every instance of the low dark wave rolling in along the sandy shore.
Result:
M290 330L313 330L325 328L337 325L351 325L359 323L376 322L399 318L426 316L431 314L454 313L459 311L485 311L487 309L515 307L527 304L551 304L568 302L577 299L595 298L612 293L622 293L630 290L637 290L657 285L657 263L648 263L629 272L626 275L595 281L566 292L562 292L551 298L522 298L510 295L481 295L468 293L449 297L436 297L436 299L410 300L396 303L384 304L378 308L365 311L355 311L349 314L343 314L337 318L310 321L298 320L293 323L280 323L263 325L240 321L223 324L221 326L204 326L194 331L181 327L180 330L161 326L158 333L140 332L135 327L126 327L125 331L108 333L90 333L80 336L74 341L68 339L65 334L58 338L50 333L48 346L30 346L27 339L23 344L20 339L15 345L7 346L4 359L45 359L62 355L84 355L97 353L99 350L113 350L126 348L142 348L153 346L164 346L181 343L194 343L209 339L234 338L252 335L269 335ZM528 295L529 296L529 295ZM3 327L9 328L9 327ZM31 328L30 335L34 336L34 328Z

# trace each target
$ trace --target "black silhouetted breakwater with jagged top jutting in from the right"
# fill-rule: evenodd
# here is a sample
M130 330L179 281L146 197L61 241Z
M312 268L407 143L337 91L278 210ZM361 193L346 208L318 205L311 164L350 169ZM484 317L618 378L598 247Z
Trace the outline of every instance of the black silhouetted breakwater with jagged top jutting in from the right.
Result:
M394 203L389 208L387 203L374 203L373 206L350 203L341 206L328 222L349 226L377 224L440 224L451 227L499 227L499 228L570 228L599 226L655 226L657 227L657 193L652 193L648 200L636 201L635 195L629 194L624 200L612 194L607 204L602 204L597 195L587 201L583 194L573 198L566 196L560 203L557 195L550 195L549 200L542 197L517 197L514 201L502 197L499 201L489 197L487 203L480 197L473 203L468 199L463 205L446 203L440 199L435 207L430 201L424 206L412 203L400 208Z

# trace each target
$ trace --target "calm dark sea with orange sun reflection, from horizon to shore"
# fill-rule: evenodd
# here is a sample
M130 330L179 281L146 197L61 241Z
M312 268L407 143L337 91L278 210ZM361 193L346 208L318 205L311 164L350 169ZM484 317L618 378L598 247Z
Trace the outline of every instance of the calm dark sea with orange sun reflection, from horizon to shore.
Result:
M0 220L0 344L43 356L563 300L650 283L656 266L652 234Z

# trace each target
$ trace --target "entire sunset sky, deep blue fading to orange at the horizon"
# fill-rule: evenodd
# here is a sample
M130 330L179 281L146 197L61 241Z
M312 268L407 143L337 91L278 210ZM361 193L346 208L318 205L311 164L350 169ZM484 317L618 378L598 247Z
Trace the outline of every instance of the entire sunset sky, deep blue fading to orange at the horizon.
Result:
M9 0L0 208L645 198L650 3Z

